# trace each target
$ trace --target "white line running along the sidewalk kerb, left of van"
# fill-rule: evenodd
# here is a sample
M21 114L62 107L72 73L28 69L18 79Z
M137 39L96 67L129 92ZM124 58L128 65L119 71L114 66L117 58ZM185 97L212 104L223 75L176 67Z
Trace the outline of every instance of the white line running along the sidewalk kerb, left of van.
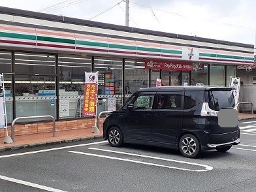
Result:
M63 149L67 149L67 148L76 148L76 147L81 147L81 146L90 146L90 145L95 145L95 144L102 144L104 142L108 142L108 141L104 140L104 141L99 141L99 142L91 142L91 143L86 143L86 144L78 144L78 145L65 146L65 147L60 147L60 148L50 148L50 149L47 149L47 150L39 150L39 151L34 151L34 152L25 152L25 153L15 153L15 154L10 154L10 155L1 155L0 159L1 158L5 158L5 157L29 155L29 154L33 154L33 153L51 152L51 151L63 150Z

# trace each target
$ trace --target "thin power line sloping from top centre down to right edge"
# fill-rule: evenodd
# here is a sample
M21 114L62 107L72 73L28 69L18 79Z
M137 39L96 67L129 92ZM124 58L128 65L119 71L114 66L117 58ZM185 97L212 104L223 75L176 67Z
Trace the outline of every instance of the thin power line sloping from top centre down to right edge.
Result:
M134 5L139 5L141 7L150 8L147 5L141 5L139 3L133 3L133 2L131 2L131 3L134 4ZM246 27L246 26L242 26L242 25L235 25L235 24L229 24L229 23L225 23L225 22L218 22L218 21L215 21L215 20L209 20L209 19L205 19L205 18L195 18L195 17L191 17L191 16L185 16L185 15L182 15L182 14L178 14L176 12L170 12L168 10L163 10L163 9L160 9L160 8L153 8L153 9L154 10L160 10L160 11L163 11L163 12L167 12L168 14L173 14L173 15L176 15L176 16L181 16L181 17L184 17L184 18L205 20L205 21L208 21L208 22L217 23L217 24L221 24L221 25L225 25L225 26L229 26L229 27L244 28L244 29L249 30L249 31L255 31L255 28L253 28L253 27Z

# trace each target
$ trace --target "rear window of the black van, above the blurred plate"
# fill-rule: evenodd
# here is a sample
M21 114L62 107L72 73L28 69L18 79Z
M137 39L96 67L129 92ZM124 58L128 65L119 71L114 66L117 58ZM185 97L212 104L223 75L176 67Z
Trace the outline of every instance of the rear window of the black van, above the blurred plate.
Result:
M234 95L232 91L207 91L209 107L212 110L219 111L224 108L234 108Z

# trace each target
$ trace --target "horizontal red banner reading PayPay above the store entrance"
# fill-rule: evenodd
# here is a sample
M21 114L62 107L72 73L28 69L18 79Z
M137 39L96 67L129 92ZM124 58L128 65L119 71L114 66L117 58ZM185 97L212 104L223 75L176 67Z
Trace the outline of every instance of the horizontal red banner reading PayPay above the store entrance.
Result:
M163 70L163 71L192 71L193 63L186 61L165 61L144 59L145 69Z

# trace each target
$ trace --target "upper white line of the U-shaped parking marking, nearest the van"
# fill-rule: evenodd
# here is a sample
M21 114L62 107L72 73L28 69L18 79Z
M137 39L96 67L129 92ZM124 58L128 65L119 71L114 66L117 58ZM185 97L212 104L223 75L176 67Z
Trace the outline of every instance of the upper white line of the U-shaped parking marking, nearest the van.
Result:
M176 162L176 163L185 163L188 165L197 165L200 167L205 167L206 170L212 170L213 167L210 167L208 165L202 165L199 163L190 163L190 162L186 162L186 161L178 161L178 160L174 160L174 159L165 159L165 158L161 158L161 157L153 157L153 156L148 156L148 155L139 155L139 154L135 154L135 153L126 153L126 152L118 152L118 151L113 151L113 150L103 150L103 149L99 149L99 148L89 148L89 150L97 150L97 151L102 151L102 152L110 152L110 153L120 153L123 155L132 155L132 156L136 156L136 157L146 157L146 158L150 158L150 159L158 159L158 160L163 160L163 161L172 161L172 162Z

